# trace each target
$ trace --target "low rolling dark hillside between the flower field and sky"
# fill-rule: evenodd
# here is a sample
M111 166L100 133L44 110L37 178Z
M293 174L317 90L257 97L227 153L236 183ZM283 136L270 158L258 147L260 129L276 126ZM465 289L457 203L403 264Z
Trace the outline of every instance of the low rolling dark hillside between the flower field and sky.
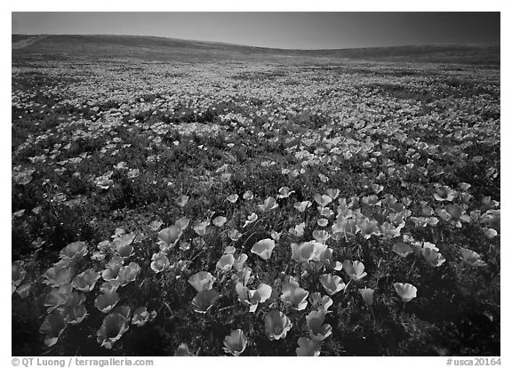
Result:
M12 35L12 60L24 57L143 60L259 60L331 63L341 60L500 65L500 44L437 44L335 50L284 50L154 36Z

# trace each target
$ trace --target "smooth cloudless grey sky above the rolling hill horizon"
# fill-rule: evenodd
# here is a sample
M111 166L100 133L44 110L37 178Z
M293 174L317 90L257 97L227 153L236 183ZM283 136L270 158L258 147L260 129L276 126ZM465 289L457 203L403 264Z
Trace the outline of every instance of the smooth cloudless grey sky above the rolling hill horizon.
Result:
M500 12L12 12L12 33L167 36L292 49L500 43Z

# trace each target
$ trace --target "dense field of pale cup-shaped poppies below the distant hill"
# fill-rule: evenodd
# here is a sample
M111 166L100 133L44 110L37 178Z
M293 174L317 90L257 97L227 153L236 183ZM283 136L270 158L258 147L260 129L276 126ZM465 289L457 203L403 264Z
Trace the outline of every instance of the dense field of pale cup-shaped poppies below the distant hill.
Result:
M12 355L500 356L499 64L52 55Z

